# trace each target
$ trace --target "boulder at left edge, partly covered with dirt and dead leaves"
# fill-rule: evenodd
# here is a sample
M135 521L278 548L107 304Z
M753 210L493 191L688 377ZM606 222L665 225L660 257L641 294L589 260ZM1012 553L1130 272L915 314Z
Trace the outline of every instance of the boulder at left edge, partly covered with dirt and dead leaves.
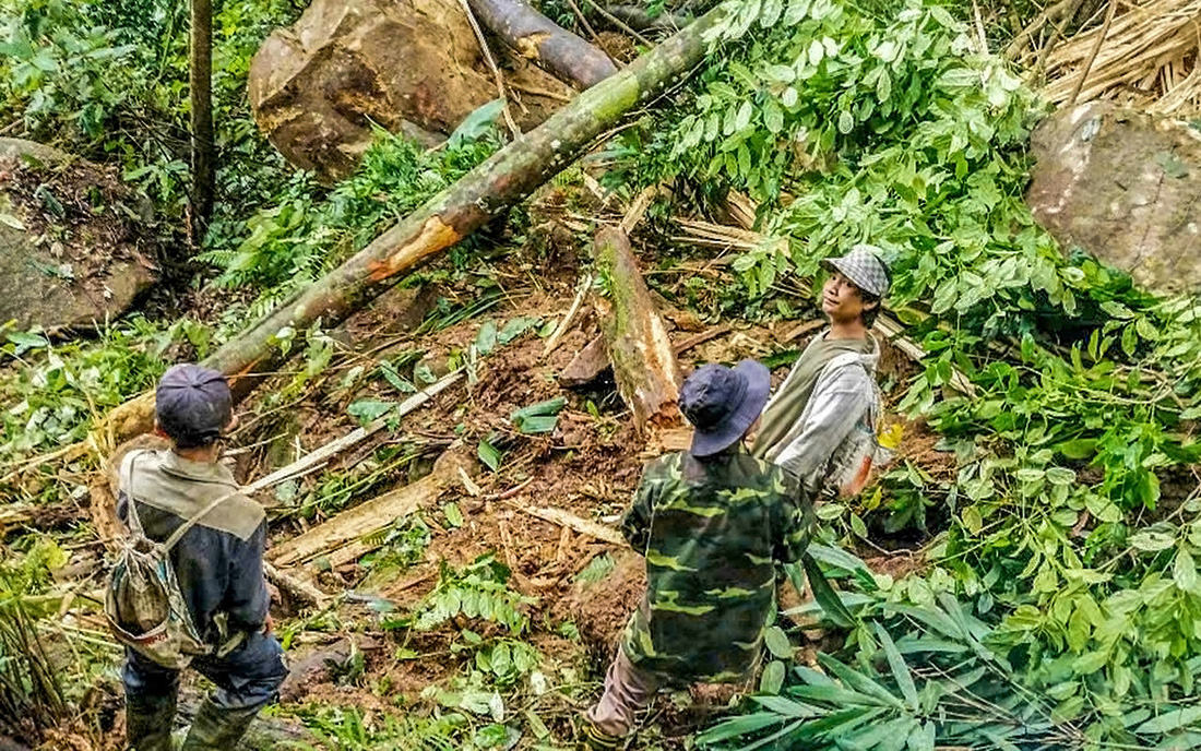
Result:
M155 281L149 202L113 174L0 138L0 324L102 324Z

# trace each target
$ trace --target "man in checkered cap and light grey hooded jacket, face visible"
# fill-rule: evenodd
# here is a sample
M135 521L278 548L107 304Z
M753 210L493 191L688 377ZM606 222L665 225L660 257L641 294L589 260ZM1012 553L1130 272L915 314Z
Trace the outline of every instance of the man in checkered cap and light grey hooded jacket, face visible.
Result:
M809 342L763 413L752 453L790 471L819 495L854 495L888 452L876 440L882 398L879 342L870 330L891 284L874 245L826 258L821 310L830 328Z

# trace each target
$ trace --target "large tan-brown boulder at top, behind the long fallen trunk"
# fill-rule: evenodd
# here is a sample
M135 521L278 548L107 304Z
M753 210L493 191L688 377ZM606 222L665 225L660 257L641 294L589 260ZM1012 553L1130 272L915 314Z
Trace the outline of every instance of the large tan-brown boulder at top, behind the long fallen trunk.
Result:
M506 61L521 127L570 97L549 74L512 56L498 64ZM437 141L496 97L458 0L313 0L263 42L250 67L258 127L285 159L324 181L354 169L372 124Z

